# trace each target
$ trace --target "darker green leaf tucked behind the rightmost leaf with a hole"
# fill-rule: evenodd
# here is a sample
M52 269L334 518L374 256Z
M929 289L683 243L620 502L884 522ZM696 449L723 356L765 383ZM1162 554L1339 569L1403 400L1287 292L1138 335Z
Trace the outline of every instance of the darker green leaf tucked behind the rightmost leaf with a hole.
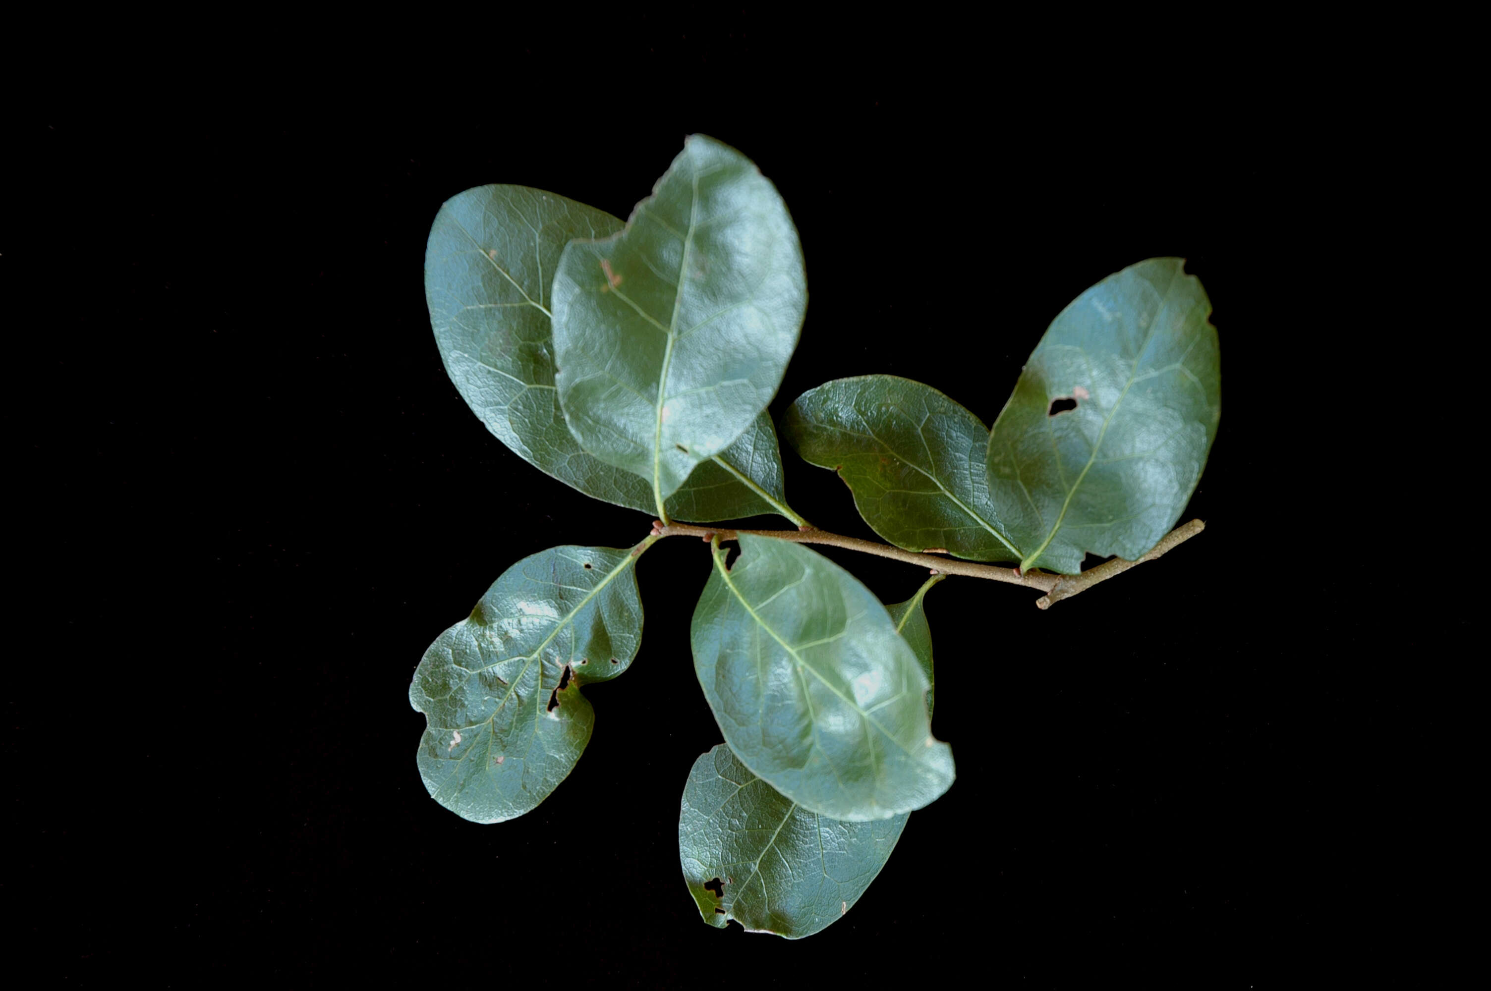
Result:
M932 386L896 376L836 379L792 404L783 434L820 468L836 468L854 507L905 550L1018 560L989 499L989 429Z

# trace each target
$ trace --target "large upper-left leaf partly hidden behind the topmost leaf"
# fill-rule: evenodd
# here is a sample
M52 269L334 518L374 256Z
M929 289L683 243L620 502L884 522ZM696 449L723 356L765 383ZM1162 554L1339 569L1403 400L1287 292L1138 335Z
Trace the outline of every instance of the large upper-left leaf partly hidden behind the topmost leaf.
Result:
M498 440L592 498L655 513L646 480L580 450L555 390L549 288L559 253L571 238L623 227L610 213L541 189L467 189L440 207L429 228L425 300L446 373ZM671 517L699 523L765 513L799 522L784 508L777 437L765 413L668 502Z

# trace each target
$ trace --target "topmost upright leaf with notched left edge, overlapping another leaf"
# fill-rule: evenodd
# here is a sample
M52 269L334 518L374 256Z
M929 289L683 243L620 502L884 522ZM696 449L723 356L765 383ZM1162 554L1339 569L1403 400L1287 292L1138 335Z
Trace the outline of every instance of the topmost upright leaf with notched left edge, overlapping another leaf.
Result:
M781 197L740 152L690 137L625 231L559 258L555 381L570 431L663 505L766 408L805 305Z

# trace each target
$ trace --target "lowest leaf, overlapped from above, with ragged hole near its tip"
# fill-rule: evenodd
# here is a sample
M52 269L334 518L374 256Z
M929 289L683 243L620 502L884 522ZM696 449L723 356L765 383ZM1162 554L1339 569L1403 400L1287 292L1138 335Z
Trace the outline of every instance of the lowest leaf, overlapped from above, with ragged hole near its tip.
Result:
M811 936L836 922L886 866L907 817L842 823L808 812L720 744L693 762L678 858L699 915L754 933Z

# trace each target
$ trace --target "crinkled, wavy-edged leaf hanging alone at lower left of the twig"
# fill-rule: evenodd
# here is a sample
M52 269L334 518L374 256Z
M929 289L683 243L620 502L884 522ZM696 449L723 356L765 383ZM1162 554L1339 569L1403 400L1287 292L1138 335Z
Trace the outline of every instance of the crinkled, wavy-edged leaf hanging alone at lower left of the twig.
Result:
M574 769L595 714L580 686L626 671L643 633L637 557L553 547L522 559L425 651L409 702L419 773L473 823L532 811Z

